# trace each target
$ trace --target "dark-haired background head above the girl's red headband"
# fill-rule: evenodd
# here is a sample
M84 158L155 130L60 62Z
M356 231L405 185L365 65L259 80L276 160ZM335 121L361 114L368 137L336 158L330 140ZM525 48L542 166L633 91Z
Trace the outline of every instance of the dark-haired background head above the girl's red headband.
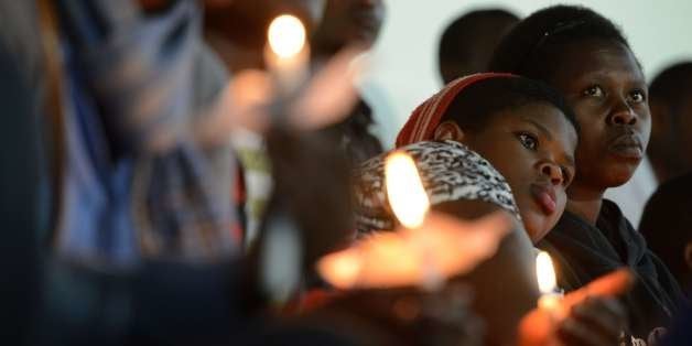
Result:
M437 63L444 83L485 72L495 45L517 22L519 18L506 10L482 9L465 13L448 24L437 46ZM448 66L458 68L453 71Z

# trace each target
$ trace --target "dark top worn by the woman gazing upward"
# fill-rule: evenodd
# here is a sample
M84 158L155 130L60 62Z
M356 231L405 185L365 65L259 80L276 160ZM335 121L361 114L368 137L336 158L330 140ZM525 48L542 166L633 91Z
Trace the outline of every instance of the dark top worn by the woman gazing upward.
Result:
M552 256L559 284L566 291L629 267L638 280L623 303L635 337L647 340L652 329L668 327L684 302L675 279L610 201L603 201L596 227L565 212L538 247Z

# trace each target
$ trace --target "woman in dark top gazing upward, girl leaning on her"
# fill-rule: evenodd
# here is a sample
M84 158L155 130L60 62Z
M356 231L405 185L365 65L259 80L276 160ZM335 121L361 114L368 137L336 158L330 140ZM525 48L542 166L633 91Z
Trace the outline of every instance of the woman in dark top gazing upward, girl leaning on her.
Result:
M627 40L592 10L552 7L515 26L490 68L544 80L574 109L582 128L577 174L566 212L539 246L551 252L566 290L631 268L640 280L625 299L629 328L638 343L652 343L683 296L618 206L603 198L632 176L651 128L647 85Z

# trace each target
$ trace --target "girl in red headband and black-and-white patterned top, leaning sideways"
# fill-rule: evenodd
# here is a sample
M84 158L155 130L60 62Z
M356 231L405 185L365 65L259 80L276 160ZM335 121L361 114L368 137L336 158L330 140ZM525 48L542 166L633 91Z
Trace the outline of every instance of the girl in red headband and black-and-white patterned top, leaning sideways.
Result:
M516 229L538 241L564 210L576 141L573 113L559 94L508 74L478 74L452 82L419 106L397 145L415 160L434 209L464 218L505 210L515 216ZM357 174L361 233L394 227L383 188L385 156L365 162ZM474 307L491 329L490 344L513 343L510 331L536 306L528 252L529 239L515 231L491 260L466 277L476 288ZM511 282L511 290L498 283L498 275ZM615 344L623 322L619 305L594 299L580 306L561 324L565 339ZM599 332L584 333L592 325Z

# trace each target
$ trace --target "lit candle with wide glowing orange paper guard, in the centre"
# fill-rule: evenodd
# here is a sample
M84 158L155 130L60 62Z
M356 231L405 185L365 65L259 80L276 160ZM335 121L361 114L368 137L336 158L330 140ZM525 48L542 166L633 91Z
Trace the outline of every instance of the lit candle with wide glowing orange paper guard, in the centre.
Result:
M385 162L389 204L403 227L370 235L326 255L317 271L339 289L419 285L442 288L446 278L473 270L497 251L510 220L496 214L474 223L429 213L430 201L413 159L404 152Z

